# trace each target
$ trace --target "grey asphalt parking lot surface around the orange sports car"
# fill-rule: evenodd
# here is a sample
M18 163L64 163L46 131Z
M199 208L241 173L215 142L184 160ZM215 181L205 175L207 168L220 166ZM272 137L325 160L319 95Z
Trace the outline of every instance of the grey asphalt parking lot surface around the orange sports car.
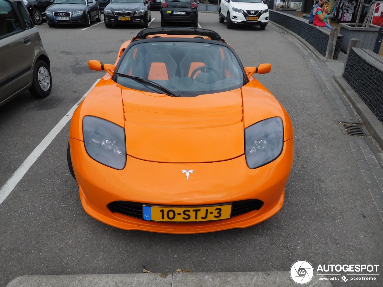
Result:
M160 15L150 27L160 26ZM291 116L295 161L282 210L246 229L169 235L125 231L82 209L66 161L69 124L0 205L0 286L21 275L288 271L298 259L318 264L380 264L383 224L346 137L316 77L296 46L268 25L228 30L218 15L200 13L202 28L232 44L244 66L271 63L257 75ZM93 22L95 24L95 22ZM104 24L38 26L51 59L45 99L28 91L0 108L0 186L79 98L103 76L88 60L114 63L122 42L140 27ZM381 268L381 267L380 267ZM334 282L336 286L382 286Z

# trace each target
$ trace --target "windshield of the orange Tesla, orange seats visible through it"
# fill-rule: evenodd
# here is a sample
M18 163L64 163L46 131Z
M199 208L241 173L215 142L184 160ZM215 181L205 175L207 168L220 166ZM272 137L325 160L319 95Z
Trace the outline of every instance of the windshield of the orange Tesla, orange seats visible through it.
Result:
M126 52L117 73L155 82L188 97L240 88L244 72L225 46L204 42L146 42ZM154 86L116 74L119 84L164 93Z

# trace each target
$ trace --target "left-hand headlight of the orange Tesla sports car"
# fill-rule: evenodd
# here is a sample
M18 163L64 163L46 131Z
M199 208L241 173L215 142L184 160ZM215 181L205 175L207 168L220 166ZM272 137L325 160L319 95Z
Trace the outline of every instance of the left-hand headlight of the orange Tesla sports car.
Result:
M82 121L85 150L95 161L122 170L126 162L125 130L99 117Z

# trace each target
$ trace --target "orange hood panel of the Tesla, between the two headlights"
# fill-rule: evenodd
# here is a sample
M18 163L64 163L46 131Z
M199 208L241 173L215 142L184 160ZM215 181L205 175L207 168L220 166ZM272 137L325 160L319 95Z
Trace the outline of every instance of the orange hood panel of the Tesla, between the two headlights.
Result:
M122 87L122 98L132 157L186 163L244 154L241 89L176 98Z

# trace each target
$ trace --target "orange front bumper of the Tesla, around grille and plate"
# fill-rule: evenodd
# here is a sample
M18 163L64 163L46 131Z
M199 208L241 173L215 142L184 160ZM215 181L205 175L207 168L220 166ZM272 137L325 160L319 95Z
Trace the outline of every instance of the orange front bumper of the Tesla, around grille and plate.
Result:
M293 139L284 143L280 157L251 170L245 156L213 163L157 163L127 156L123 170L92 160L82 141L70 139L72 165L85 211L93 218L125 230L161 233L203 233L245 228L275 215L283 205L285 185L293 163ZM181 170L192 169L187 181ZM151 222L112 213L114 201L157 205L208 205L259 199L253 210L231 219L211 222Z

